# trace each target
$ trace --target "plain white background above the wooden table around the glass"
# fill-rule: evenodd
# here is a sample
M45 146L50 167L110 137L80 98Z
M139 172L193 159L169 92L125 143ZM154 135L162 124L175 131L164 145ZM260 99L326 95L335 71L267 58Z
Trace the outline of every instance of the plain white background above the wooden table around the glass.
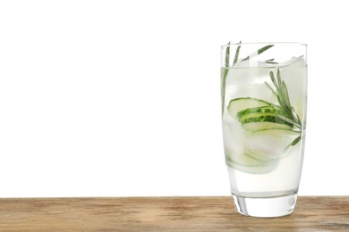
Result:
M349 195L345 1L1 1L0 197L230 195L220 46L308 44L300 195Z

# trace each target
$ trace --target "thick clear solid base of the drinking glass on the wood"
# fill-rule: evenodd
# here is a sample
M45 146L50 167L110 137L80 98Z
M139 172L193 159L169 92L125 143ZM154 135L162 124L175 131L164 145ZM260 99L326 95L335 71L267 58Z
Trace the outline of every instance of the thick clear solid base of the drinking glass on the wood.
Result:
M245 197L233 194L236 211L239 213L261 218L282 217L294 211L297 195L276 197Z

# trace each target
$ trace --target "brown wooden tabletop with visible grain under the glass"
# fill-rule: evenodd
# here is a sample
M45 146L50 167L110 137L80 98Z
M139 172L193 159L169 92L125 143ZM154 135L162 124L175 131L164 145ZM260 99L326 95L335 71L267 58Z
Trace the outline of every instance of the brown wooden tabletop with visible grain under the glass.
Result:
M0 231L349 231L349 196L300 196L271 219L238 214L229 196L0 198Z

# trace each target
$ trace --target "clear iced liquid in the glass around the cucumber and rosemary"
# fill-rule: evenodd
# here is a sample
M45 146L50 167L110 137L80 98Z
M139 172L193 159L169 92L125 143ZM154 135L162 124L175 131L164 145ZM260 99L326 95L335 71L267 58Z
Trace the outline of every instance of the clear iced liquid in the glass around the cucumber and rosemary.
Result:
M294 59L294 62L284 66L279 65L278 68L288 89L291 105L304 123L306 120L306 63L302 59ZM222 69L222 76L224 71ZM251 137L251 133L244 131L241 123L227 111L229 102L240 97L258 98L271 104L278 104L276 95L269 88L275 87L269 76L270 71L273 71L277 77L277 67L234 67L228 70L226 76L222 122L226 163L231 191L234 195L274 197L293 195L298 191L302 173L305 127L302 130L302 140L285 150L285 146L295 137L291 135L288 138L286 134L282 141L278 136L273 135ZM247 151L251 150L251 146L257 147L257 152L263 153L267 158L260 161L246 155Z

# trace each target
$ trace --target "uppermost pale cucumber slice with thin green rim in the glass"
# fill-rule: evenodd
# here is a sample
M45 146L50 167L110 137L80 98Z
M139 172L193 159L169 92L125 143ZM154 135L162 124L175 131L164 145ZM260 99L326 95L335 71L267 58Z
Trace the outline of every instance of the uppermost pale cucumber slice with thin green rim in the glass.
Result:
M228 112L230 116L232 116L234 119L237 117L237 113L241 112L248 108L255 108L255 107L262 107L262 106L271 106L272 104L257 99L257 98L251 98L251 97L241 97L241 98L235 98L229 102L229 105L227 107Z

